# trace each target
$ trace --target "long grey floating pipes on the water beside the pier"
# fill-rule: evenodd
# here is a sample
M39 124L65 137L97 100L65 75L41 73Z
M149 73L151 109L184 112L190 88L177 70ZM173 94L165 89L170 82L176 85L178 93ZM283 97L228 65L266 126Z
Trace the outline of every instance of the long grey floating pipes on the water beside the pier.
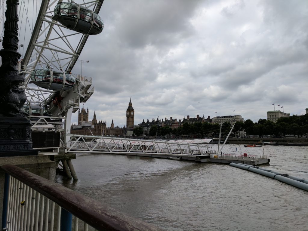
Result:
M267 176L270 178L273 178L275 180L279 180L283 183L293 185L294 187L303 189L308 192L308 180L298 178L296 176L291 176L288 174L280 174L278 172L266 169L266 168L260 168L257 166L249 165L249 164L235 164L235 163L230 163L230 166L236 167L236 168L241 168L248 170L250 172L255 172L258 174L261 174L263 176Z

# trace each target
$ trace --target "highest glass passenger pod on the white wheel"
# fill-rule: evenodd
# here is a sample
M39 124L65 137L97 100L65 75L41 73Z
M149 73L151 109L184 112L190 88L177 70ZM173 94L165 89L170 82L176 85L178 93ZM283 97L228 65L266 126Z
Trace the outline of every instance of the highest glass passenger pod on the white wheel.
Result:
M98 14L75 2L58 3L54 13L52 19L82 34L99 34L104 28L104 22Z

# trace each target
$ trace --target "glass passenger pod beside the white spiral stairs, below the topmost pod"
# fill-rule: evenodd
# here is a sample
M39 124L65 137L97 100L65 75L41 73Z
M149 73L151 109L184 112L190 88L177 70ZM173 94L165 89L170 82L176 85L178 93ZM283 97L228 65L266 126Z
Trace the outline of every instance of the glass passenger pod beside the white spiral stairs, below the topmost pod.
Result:
M32 71L30 83L45 89L59 91L72 89L76 80L71 74L63 71L41 68Z

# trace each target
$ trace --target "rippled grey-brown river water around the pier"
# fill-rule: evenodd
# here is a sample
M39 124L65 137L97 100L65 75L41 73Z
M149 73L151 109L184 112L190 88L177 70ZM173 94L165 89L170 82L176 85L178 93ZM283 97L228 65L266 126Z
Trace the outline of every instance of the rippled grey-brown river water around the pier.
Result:
M223 152L235 148L263 152ZM264 154L263 168L308 179L308 147ZM72 163L79 180L57 176L59 184L165 230L308 230L308 192L229 165L93 153Z

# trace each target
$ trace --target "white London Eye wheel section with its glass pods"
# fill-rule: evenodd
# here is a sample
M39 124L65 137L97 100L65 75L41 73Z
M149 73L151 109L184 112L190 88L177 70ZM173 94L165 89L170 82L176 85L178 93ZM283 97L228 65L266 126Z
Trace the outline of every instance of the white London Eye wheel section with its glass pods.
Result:
M64 117L78 110L79 104L93 94L91 78L71 72L88 37L103 30L99 16L102 4L103 0L46 0L41 5L34 0L19 0L18 71L26 77L21 87L27 96L23 110L28 114L48 112ZM1 0L0 5L2 38L6 0Z

